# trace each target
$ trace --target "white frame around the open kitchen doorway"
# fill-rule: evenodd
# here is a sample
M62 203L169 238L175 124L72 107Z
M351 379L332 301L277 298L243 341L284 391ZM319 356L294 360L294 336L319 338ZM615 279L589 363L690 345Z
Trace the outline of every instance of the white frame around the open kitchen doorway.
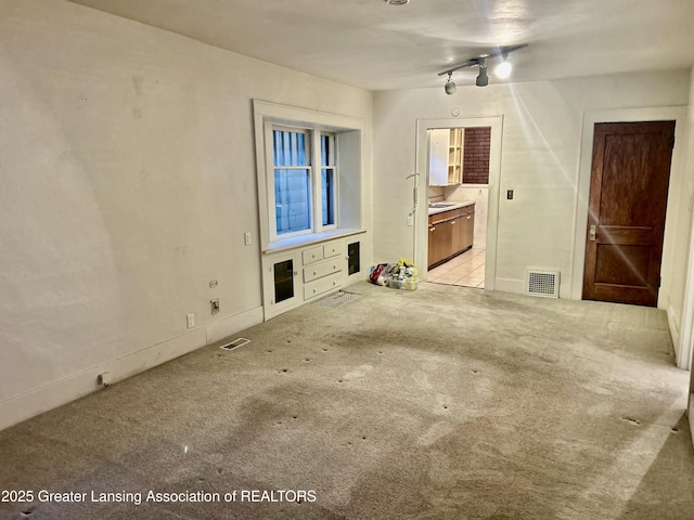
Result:
M416 188L414 220L414 264L426 281L428 273L428 130L434 128L491 127L489 147L489 192L487 194L487 249L485 260L485 289L493 290L497 280L497 229L499 225L499 186L501 180L501 136L503 116L461 117L460 119L417 119L415 167L420 182Z

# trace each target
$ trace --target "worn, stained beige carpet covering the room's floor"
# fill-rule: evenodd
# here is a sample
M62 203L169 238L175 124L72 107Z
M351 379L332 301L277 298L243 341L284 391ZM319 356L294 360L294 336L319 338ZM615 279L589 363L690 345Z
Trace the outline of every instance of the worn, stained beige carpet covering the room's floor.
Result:
M0 517L694 518L663 312L349 290L0 432Z

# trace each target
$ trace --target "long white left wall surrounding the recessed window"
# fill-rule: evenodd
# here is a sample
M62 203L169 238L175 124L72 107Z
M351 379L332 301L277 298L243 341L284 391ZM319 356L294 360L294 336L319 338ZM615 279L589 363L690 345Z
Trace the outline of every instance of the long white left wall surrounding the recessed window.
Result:
M371 192L370 92L57 0L0 63L0 429L262 320L252 99L363 118Z

